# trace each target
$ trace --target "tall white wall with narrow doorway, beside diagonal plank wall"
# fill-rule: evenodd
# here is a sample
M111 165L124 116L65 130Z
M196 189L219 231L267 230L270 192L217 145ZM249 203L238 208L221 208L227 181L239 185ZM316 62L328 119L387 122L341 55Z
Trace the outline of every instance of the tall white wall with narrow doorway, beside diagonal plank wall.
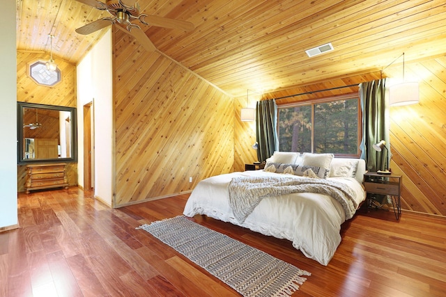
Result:
M112 109L112 30L77 65L78 184L84 186L84 105L93 102L94 191L112 206L113 198L113 109Z

